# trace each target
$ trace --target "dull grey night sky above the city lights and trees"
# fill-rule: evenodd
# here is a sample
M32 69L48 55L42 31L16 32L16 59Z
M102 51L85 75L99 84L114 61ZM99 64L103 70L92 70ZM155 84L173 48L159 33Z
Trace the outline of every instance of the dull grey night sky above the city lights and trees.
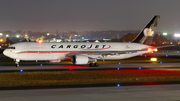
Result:
M180 0L0 0L0 31L141 30L180 33Z

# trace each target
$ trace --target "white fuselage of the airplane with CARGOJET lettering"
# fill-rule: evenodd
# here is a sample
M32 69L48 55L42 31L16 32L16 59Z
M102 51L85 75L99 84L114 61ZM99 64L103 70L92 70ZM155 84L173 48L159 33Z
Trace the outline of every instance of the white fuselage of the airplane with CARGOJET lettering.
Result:
M85 43L85 42L69 42L69 43L37 43L37 42L21 42L13 44L9 49L5 49L4 55L18 60L63 60L71 55L87 55L95 59L126 59L144 53L148 53L146 49L150 46L139 43ZM136 52L132 52L132 51ZM111 53L112 54L109 54ZM117 54L119 53L120 54ZM116 53L116 54L114 54ZM107 54L107 55L106 55Z

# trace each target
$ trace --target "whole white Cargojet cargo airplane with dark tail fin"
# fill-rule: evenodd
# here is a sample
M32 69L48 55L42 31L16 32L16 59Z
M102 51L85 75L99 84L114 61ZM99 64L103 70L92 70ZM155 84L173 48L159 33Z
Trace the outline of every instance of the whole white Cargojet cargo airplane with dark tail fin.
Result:
M145 44L153 37L160 16L154 16L132 42L20 42L10 45L3 54L15 60L60 62L70 57L75 65L99 66L97 60L117 60L139 56L154 47ZM151 40L152 41L152 40Z

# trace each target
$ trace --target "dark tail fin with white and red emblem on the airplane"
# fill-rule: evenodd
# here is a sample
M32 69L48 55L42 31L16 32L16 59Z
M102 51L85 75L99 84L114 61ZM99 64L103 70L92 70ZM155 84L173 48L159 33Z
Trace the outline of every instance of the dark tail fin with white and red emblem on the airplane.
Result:
M158 25L160 16L156 15L152 20L146 25L146 27L137 35L137 37L132 41L134 43L141 44L151 44L154 36L154 31Z

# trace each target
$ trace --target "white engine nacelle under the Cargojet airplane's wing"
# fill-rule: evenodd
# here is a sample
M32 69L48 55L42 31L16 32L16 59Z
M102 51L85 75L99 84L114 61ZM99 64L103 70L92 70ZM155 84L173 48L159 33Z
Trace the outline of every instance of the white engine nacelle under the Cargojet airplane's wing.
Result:
M91 59L84 55L74 55L71 59L73 64L81 65L81 64L87 64L88 62L96 62L95 59Z

